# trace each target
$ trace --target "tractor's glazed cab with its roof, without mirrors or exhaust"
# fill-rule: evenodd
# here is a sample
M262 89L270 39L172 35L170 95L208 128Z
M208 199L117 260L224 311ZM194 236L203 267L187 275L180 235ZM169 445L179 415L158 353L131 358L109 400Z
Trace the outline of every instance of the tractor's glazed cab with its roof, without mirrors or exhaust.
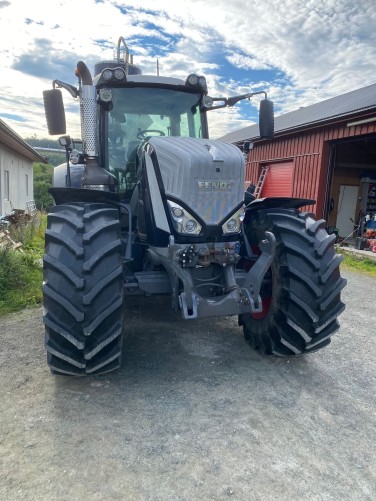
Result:
M137 183L138 151L151 137L207 138L201 86L187 86L175 78L151 80L135 75L123 86L109 87L101 79L99 163L116 177L120 193Z

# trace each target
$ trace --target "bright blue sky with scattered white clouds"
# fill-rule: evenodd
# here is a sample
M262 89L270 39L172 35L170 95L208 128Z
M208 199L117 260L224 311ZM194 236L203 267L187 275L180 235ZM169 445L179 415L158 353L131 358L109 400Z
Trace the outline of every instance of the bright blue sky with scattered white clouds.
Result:
M77 85L123 36L143 74L204 75L212 97L264 90L280 115L376 82L375 0L0 0L0 118L49 137L42 92ZM78 104L64 91L67 133ZM209 113L210 137L257 121L258 99Z

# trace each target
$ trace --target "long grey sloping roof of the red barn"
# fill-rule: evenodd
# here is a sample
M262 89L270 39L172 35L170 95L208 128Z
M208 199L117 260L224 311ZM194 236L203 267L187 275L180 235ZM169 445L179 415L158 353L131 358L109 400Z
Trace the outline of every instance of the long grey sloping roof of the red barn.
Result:
M376 110L376 84L275 117L274 130L276 133L293 131L372 109ZM256 124L230 132L219 139L226 143L237 143L257 139L259 135L259 127Z

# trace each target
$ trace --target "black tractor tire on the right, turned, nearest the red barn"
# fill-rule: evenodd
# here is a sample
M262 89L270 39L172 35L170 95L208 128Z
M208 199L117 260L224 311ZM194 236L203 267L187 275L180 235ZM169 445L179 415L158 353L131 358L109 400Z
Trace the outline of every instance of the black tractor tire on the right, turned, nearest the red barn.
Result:
M311 213L268 209L252 215L245 225L253 246L276 237L276 254L261 288L265 310L241 315L244 336L265 355L293 356L319 350L338 330L344 310L340 292L346 285L334 249L335 235Z

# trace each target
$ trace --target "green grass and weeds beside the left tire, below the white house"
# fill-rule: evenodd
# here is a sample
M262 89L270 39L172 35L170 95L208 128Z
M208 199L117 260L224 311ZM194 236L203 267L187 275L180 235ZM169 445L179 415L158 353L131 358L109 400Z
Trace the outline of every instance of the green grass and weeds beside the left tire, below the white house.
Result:
M27 226L11 225L12 239L23 253L0 248L0 316L42 303L44 232L47 216Z

